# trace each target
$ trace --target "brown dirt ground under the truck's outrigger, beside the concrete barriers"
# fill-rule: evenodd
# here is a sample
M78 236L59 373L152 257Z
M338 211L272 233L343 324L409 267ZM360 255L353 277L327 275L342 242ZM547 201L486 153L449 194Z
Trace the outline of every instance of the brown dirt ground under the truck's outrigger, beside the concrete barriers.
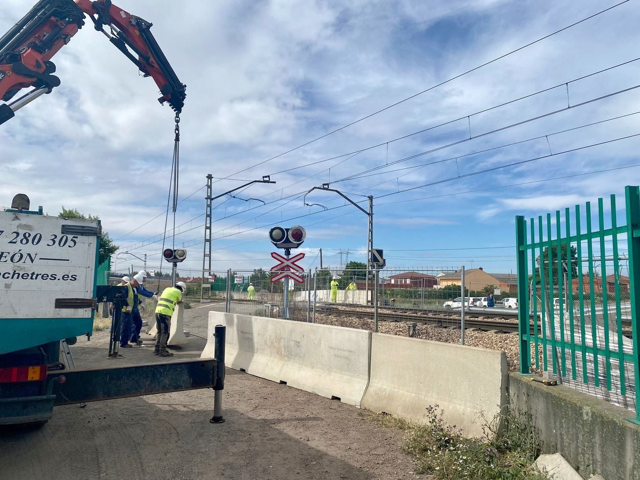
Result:
M99 332L71 349L77 368L159 361L147 344L106 360L108 332ZM203 347L190 338L173 359ZM227 421L210 424L212 410L212 390L56 407L40 429L0 429L0 479L425 478L401 451L401 431L336 400L227 369Z

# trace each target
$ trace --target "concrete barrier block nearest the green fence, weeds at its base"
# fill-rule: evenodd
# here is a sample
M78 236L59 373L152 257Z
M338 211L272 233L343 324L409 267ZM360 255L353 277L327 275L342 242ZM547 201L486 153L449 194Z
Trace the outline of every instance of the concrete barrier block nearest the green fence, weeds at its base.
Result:
M480 413L491 420L500 412L507 385L504 352L373 333L362 406L421 421L426 408L438 404L447 424L465 436L481 436Z

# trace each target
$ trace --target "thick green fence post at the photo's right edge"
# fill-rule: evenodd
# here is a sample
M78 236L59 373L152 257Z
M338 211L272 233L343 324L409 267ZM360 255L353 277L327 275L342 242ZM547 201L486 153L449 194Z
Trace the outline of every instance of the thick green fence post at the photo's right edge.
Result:
M629 257L629 292L631 300L631 328L634 344L634 374L636 377L636 418L632 422L640 424L640 408L638 408L638 394L640 393L640 349L638 335L640 335L640 188L625 187L627 202L627 243Z

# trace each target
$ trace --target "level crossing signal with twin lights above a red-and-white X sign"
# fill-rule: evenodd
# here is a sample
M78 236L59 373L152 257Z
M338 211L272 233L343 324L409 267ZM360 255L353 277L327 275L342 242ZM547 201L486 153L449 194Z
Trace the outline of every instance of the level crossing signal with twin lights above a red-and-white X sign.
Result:
M273 227L269 230L269 240L276 248L284 249L284 257L277 252L271 253L271 257L276 260L280 260L280 263L273 267L271 271L280 272L271 277L271 282L278 282L284 280L283 294L284 294L284 306L282 308L282 318L289 318L289 278L292 278L295 282L303 282L303 278L294 273L294 271L303 272L304 269L296 262L302 260L305 257L304 253L298 253L291 258L291 249L298 248L307 238L307 231L300 227L300 225L294 225L291 228ZM291 270L294 271L291 271Z

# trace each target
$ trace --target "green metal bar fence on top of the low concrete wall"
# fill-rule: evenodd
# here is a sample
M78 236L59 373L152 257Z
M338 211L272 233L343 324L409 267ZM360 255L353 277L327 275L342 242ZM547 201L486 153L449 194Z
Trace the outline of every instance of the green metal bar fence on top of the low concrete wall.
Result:
M640 392L640 190L592 209L516 217L520 372L636 412ZM624 222L623 222L624 223ZM530 314L533 320L530 321Z

